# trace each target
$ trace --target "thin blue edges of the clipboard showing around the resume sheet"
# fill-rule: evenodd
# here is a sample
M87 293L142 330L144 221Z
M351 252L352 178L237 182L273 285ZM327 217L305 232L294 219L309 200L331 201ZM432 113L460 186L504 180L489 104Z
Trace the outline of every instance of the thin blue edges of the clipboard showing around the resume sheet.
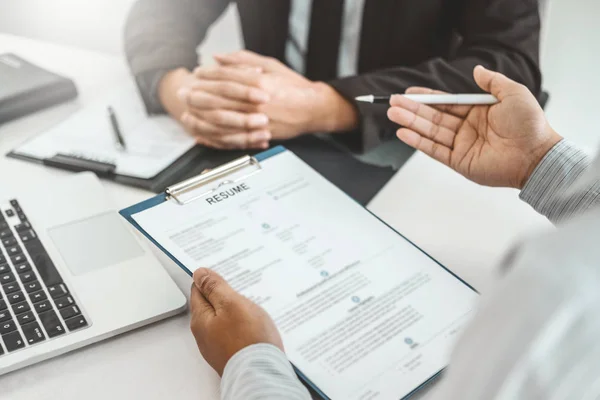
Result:
M254 157L258 161L263 161L263 160L265 160L265 159L267 159L269 157L273 157L273 156L275 156L277 154L280 154L280 153L283 153L285 151L288 151L288 150L284 146L277 146L277 147L274 147L274 148L269 149L267 151L264 151L262 153L259 153L259 154L255 155ZM155 206L157 206L159 204L162 204L165 201L167 201L167 195L165 193L161 193L161 194L156 195L156 196L154 196L154 197L152 197L152 198L150 198L148 200L142 201L141 203L138 203L138 204L135 204L135 205L133 205L131 207L127 207L127 208L123 209L123 210L119 211L119 214L121 214L121 216L123 218L125 218L138 231L140 231L148 240L150 240L156 247L158 247L163 253L165 253L171 260L173 260L173 262L175 262L175 264L177 264L181 269L183 269L189 276L192 276L193 275L193 271L190 271L175 256L173 256L173 254L171 254L170 252L167 251L167 249L165 249L163 246L161 246L152 236L150 236L148 234L148 232L146 232L133 219L133 215L138 214L138 213L140 213L142 211L145 211L145 210L147 210L149 208L155 207ZM362 205L360 205L360 206L363 207ZM473 290L475 293L479 294L479 292L473 286L469 285L461 277L459 277L454 272L452 272L451 270L449 270L448 268L446 268L438 260L436 260L435 258L433 258L432 256L430 256L427 252L425 252L423 249L421 249L419 246L417 246L415 243L413 243L406 236L404 236L403 234L401 234L400 232L398 232L396 229L394 229L393 227L391 227L387 222L385 222L384 220L382 220L381 218L379 218L377 215L375 215L373 212L371 212L371 210L369 210L366 207L363 207L363 208L365 209L365 211L367 211L373 217L377 218L377 220L379 220L382 224L384 224L389 229L391 229L392 231L394 231L396 234L398 234L400 237L402 237L408 243L410 243L411 245L413 245L414 247L416 247L417 250L419 250L421 253L423 253L424 255L426 255L430 260L432 260L437 265L439 265L440 267L442 267L443 269L445 269L448 273L450 273L450 275L452 275L453 277L455 277L456 279L458 279L460 282L462 282L469 289ZM302 380L306 385L310 386L310 388L312 388L323 400L331 400L325 393L323 393L321 391L321 389L319 389L310 379L308 379L306 377L306 375L304 375L304 373L302 371L300 371L298 368L296 368L296 366L294 364L292 364L292 367L294 368L294 371L296 372L296 375L298 375L298 377L300 378L300 380ZM417 386L409 394L407 394L406 396L402 397L399 400L408 400L410 397L412 397L413 395L415 395L417 392L419 392L420 390L422 390L423 388L425 388L426 386L428 386L432 382L436 381L442 375L442 373L444 372L444 370L445 370L445 368L442 368L441 370L439 370L438 372L436 372L435 374L433 374L431 377L429 377L427 380L425 380L422 384L420 384L419 386Z

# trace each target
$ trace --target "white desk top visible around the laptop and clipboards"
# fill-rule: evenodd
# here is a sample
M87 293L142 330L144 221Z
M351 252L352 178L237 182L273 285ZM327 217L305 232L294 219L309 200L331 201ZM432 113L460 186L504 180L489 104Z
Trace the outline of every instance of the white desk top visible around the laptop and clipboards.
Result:
M18 196L34 186L51 190L53 182L69 173L3 155L126 79L126 64L113 56L0 34L3 52L18 53L77 83L75 104L0 126L2 192ZM117 208L152 195L111 182L104 186ZM480 291L511 243L550 226L518 200L516 191L477 186L421 154L409 160L369 208ZM191 279L156 254L187 295ZM212 400L218 399L218 385L183 314L0 377L0 399ZM423 394L430 397L431 391Z

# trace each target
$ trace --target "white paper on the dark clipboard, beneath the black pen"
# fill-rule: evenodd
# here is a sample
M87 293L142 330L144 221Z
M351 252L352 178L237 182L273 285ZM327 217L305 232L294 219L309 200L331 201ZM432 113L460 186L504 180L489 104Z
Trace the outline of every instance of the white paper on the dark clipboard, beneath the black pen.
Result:
M118 118L126 149L117 146L108 107ZM173 119L148 116L134 82L126 81L12 153L71 170L148 180L195 145Z

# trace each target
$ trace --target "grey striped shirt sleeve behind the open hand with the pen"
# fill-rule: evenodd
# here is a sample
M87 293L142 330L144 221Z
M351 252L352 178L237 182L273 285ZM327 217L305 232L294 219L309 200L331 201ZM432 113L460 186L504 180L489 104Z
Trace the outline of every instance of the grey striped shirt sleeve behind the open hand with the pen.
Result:
M521 191L521 200L555 224L598 206L600 179L590 182L584 176L594 170L591 164L589 155L562 140L534 170Z

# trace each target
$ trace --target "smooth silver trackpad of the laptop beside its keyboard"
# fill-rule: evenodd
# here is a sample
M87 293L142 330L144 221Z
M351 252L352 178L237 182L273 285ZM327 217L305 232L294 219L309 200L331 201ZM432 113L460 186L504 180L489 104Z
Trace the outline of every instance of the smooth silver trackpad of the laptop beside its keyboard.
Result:
M73 275L142 256L144 250L115 212L57 226L50 238Z

